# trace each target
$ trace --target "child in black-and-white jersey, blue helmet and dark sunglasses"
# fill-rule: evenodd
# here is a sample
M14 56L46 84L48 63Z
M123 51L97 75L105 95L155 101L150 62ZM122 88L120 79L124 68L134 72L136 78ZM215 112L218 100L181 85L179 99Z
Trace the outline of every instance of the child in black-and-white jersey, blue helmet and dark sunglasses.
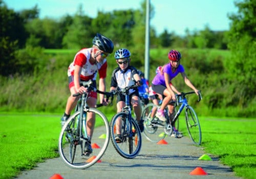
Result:
M111 87L110 91L114 91L116 88L123 89L127 86L131 86L135 84L142 85L141 78L139 76L138 71L134 66L130 65L131 62L131 53L127 49L119 49L115 53L115 59L118 64L118 68L116 68L111 77ZM135 81L134 81L135 80ZM136 120L139 124L140 131L143 132L143 120L141 120L141 106L139 99L139 91L138 89L130 89L130 101L134 108L134 112L136 114ZM123 94L118 94L117 96L117 113L121 112L122 108L125 106L125 96ZM120 119L121 120L121 119ZM115 140L120 142L120 133L121 133L121 123L117 121L116 131L117 135L115 136Z

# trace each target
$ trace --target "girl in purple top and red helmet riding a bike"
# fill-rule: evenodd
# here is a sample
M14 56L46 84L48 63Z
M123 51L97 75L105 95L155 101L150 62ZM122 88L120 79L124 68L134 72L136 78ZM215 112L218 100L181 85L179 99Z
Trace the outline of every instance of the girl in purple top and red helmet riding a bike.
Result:
M152 81L152 89L156 93L159 93L164 96L163 102L160 108L157 111L156 117L161 121L166 121L164 117L164 108L167 106L170 100L176 101L174 91L171 87L171 80L175 78L179 73L182 75L184 82L188 87L193 89L198 95L198 89L190 82L187 78L183 66L180 64L181 54L176 50L171 50L168 53L169 63L165 64L161 70L161 73L158 73ZM177 94L180 94L175 90ZM168 105L170 116L173 116L174 106Z

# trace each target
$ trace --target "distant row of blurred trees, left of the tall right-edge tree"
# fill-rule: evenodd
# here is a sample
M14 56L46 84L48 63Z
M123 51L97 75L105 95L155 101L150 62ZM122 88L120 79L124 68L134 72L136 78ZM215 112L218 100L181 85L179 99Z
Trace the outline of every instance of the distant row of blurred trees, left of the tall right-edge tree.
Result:
M90 47L92 38L97 32L110 37L115 47L134 47L136 54L143 59L145 38L145 7L140 9L114 10L113 12L98 11L95 18L84 13L82 5L74 16L65 15L59 19L39 18L39 7L15 12L0 0L0 49L1 75L8 76L22 69L15 55L19 49L40 47L44 49L80 49ZM154 17L154 7L151 6ZM164 30L160 35L151 27L151 48L216 48L227 49L226 32L215 32L207 26L202 31L190 32L180 37L174 32ZM140 49L140 50L137 50ZM31 49L30 49L31 50ZM15 59L15 60L14 60ZM26 60L26 59L25 59ZM29 60L29 59L28 59ZM27 60L26 60L27 61ZM10 64L8 64L10 63ZM18 68L15 68L16 65ZM26 63L33 65L33 63ZM8 69L8 72L7 70Z

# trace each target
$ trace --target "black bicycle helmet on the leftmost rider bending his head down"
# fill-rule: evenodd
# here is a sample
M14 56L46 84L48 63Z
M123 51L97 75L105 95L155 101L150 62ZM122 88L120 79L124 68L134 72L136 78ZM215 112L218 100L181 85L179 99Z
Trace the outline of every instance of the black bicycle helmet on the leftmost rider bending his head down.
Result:
M99 33L93 38L93 44L106 53L112 53L114 50L113 41Z

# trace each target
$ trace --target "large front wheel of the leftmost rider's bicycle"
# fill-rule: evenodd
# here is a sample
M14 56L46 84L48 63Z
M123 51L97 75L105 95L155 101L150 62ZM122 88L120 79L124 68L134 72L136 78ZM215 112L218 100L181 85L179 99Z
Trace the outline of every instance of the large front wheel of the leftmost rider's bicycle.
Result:
M78 119L80 111L75 112L63 126L58 141L58 150L62 161L74 169L84 169L100 162L101 156L108 147L110 140L110 127L106 117L101 111L90 108L90 112L95 113L96 124L94 127L91 145L93 152L86 156L83 154L83 146L86 141L86 131L83 129L84 136L79 136ZM84 112L86 113L86 112Z

